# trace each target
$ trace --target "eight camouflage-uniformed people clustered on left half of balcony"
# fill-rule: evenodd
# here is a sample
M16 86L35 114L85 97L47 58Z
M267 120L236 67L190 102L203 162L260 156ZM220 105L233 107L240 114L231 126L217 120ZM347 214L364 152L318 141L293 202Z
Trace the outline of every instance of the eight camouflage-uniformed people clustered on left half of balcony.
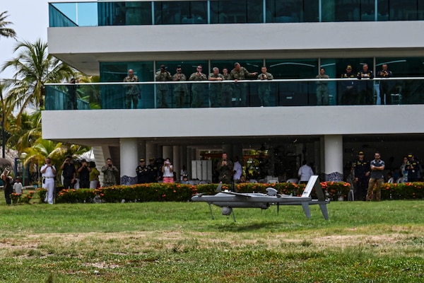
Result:
M235 83L210 83L209 98L211 107L230 107L232 98L235 98L235 106L247 106L247 84L240 83L247 78L257 78L260 81L269 81L273 79L273 75L268 72L266 67L261 67L261 74L257 72L249 72L240 63L234 64L234 69L231 71L228 68L223 68L223 73L220 74L218 67L213 67L210 74L205 74L201 64L196 66L196 71L190 76L185 76L182 72L182 67L177 66L175 74L171 74L167 70L165 64L160 65L159 71L155 73L155 81L158 81L156 86L156 107L168 108L168 97L170 96L170 81L234 81ZM129 69L128 76L124 78L125 88L125 107L127 109L137 108L139 99L141 98L141 90L137 84L131 82L139 82L139 78L134 75L134 71ZM175 99L177 108L182 108L185 105L187 96L189 96L189 85L187 83L175 84L172 88L172 99ZM204 104L206 93L205 83L192 83L190 86L191 107L199 108ZM271 86L269 83L259 84L258 88L259 99L262 106L269 106L271 95ZM131 104L132 103L132 104Z

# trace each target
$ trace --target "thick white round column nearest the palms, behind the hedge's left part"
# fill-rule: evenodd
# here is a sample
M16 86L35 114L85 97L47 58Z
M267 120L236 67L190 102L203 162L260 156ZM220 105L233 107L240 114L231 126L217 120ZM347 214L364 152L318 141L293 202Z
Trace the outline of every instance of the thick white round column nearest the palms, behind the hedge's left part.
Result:
M121 184L136 184L136 167L139 166L137 139L119 139L119 151L121 156Z

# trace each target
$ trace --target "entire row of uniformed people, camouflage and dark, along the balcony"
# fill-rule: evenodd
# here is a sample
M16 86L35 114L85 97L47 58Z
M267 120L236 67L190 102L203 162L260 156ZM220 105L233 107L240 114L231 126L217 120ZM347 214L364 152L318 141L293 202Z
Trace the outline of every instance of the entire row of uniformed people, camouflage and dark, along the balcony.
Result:
M382 64L382 69L377 72L377 78L391 78L393 73L389 71L387 64ZM354 72L351 65L346 67L346 72L341 74L341 79L359 79L361 81L346 80L338 83L339 105L366 105L373 104L374 101L374 83L369 81L374 79L374 73L367 64L362 65L362 69ZM206 97L207 84L205 83L175 83L170 81L234 81L234 83L209 83L208 93L211 101L211 107L230 107L235 99L235 106L247 106L247 83L242 83L245 79L257 79L260 81L270 81L273 75L269 73L266 66L261 67L261 73L249 72L240 63L236 62L234 68L229 71L228 68L220 69L213 67L209 74L204 73L201 64L196 66L196 71L190 76L186 76L180 65L177 66L175 74L167 70L165 64L160 65L160 69L155 72L156 86L156 108L168 108L168 100L175 100L177 108L183 108L186 105L187 98L191 95L189 101L192 108L199 108L204 105ZM330 77L325 73L324 68L319 69L317 81L317 105L329 105L329 86L326 79ZM129 69L128 76L124 78L125 89L125 107L127 109L137 108L139 99L141 99L141 88L139 78L134 74L134 70ZM379 82L379 96L381 104L391 104L391 90L393 85L390 81ZM172 93L171 93L172 91ZM271 85L270 83L259 83L258 96L261 106L270 106Z

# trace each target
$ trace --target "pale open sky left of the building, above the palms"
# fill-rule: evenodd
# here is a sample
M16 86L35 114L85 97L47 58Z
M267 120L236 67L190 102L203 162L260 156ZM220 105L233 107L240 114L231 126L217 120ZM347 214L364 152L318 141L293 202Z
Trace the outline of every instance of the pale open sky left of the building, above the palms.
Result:
M50 0L50 2L64 2L64 0ZM0 13L8 11L6 21L12 22L8 28L16 31L19 41L35 42L41 38L47 42L47 27L49 25L49 1L47 0L3 0L0 4ZM0 38L0 65L12 59L13 48L17 41L11 38ZM13 76L13 71L6 70L0 73L0 79Z

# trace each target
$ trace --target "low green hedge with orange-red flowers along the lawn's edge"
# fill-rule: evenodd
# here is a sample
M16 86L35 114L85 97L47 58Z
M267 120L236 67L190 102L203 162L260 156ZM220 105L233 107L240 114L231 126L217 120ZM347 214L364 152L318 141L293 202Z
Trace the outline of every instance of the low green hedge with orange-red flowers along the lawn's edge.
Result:
M346 182L322 182L324 192L330 200L338 200L343 197L348 200L348 192L351 185ZM217 184L206 185L182 185L178 183L150 183L139 185L117 185L113 187L100 187L98 189L61 190L58 188L57 202L82 203L93 202L186 202L196 193L206 195L215 194ZM235 185L237 192L266 192L267 187L274 187L278 192L285 195L302 195L305 185L293 183L242 183ZM232 190L231 185L224 184L223 190ZM44 200L45 190L40 189L40 199ZM316 198L314 191L312 197ZM382 200L413 200L424 198L424 183L387 184L382 187Z

